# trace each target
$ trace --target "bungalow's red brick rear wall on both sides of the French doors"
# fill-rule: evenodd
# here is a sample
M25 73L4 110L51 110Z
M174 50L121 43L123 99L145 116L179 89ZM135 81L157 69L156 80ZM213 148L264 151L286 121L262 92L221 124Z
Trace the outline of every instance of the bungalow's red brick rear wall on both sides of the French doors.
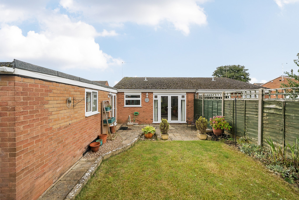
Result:
M149 102L146 103L144 99L148 93ZM193 118L194 115L194 92L187 93L187 110L186 118ZM131 122L134 119L134 112L139 112L139 115L135 119L135 123L138 124L152 124L153 122L153 93L152 92L142 92L141 93L141 106L142 107L123 107L124 106L124 93L117 93L117 122L124 124L128 122L129 115L131 115Z

